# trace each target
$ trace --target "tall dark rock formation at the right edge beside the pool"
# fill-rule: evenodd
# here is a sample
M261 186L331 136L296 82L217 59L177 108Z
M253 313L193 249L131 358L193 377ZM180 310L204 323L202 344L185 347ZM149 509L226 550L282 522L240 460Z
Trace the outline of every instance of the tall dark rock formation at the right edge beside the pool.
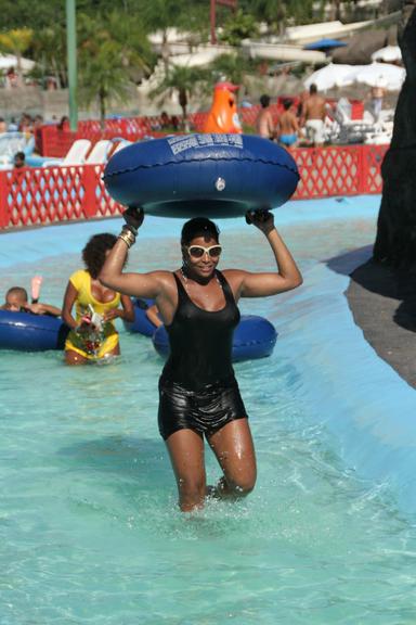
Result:
M405 0L399 46L406 80L399 95L394 131L381 175L384 191L374 258L416 271L416 0Z

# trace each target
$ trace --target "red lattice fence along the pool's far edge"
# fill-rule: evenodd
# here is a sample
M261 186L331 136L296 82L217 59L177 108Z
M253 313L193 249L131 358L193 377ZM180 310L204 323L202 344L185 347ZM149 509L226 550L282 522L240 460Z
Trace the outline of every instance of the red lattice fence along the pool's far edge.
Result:
M388 145L300 148L297 200L380 193L380 166ZM0 229L108 217L123 208L102 181L102 165L0 171Z

